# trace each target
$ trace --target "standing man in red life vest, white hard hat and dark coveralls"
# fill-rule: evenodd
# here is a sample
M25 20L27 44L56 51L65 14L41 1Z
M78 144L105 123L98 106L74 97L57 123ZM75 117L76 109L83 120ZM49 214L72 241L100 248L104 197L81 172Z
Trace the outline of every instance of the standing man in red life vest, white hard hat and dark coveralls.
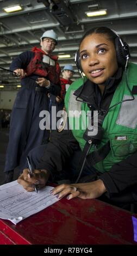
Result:
M53 30L41 36L41 48L21 53L13 60L10 70L21 78L10 120L9 144L5 160L4 183L13 181L14 169L22 172L29 151L48 141L49 130L39 127L39 114L49 110L48 93L60 94L60 67L52 52L58 36Z

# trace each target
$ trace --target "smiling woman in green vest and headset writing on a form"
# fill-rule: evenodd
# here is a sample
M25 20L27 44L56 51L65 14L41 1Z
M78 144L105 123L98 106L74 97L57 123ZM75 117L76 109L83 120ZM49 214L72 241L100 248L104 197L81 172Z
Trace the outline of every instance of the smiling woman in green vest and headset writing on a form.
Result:
M24 188L34 190L29 182L45 186L49 177L64 168L78 142L83 151L79 158L85 161L88 155L86 163L89 170L94 166L96 175L85 182L77 183L77 179L73 184L61 184L52 193L58 193L58 198L68 195L67 199L92 199L102 195L119 198L130 192L129 200L136 200L137 66L128 63L129 57L128 45L115 31L99 27L86 32L76 55L77 67L86 77L76 80L65 97L71 132L59 129L45 153L42 149L39 162L33 155L36 176L30 178L24 170L18 179ZM77 114L72 115L72 111ZM89 128L88 120L94 123L94 117L98 120Z

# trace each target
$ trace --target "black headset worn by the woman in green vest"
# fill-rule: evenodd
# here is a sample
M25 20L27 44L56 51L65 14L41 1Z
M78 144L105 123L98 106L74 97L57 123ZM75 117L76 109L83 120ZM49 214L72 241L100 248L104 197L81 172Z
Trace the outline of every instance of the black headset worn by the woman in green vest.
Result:
M117 63L119 66L125 66L127 63L127 60L130 58L129 46L126 42L122 40L122 38L120 38L120 36L113 29L111 29L111 31L116 35L115 49L116 49ZM82 75L83 70L80 64L79 50L77 50L75 54L74 62L76 63L78 71Z

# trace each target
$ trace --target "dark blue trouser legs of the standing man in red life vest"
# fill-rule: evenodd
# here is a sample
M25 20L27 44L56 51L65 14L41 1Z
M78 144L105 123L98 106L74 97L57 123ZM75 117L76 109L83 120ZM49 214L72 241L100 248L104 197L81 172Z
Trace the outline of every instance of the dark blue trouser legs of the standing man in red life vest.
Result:
M19 166L22 171L30 150L39 147L43 138L48 139L49 130L39 127L40 111L47 109L49 99L46 93L36 92L32 88L22 87L18 92L10 121L9 144L7 148L4 172Z

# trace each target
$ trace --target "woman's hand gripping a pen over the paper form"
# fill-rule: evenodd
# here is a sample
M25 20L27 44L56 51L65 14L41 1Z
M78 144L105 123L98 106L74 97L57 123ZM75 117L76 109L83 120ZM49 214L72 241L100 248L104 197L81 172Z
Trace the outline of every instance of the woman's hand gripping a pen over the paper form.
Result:
M50 173L48 170L34 170L33 175L30 176L29 169L24 169L23 173L18 177L17 182L23 186L28 192L35 190L35 185L38 189L45 187Z

